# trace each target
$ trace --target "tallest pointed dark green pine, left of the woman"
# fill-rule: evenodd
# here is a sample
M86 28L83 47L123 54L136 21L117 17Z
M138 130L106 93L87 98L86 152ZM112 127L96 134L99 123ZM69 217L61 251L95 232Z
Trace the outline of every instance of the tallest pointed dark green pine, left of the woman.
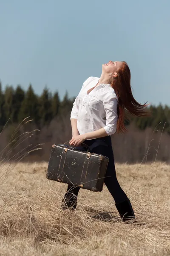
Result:
M21 122L24 118L30 116L31 119L34 119L35 123L39 122L39 104L38 97L34 93L32 85L30 84L26 92L26 96L22 102L20 113L18 115L18 120Z

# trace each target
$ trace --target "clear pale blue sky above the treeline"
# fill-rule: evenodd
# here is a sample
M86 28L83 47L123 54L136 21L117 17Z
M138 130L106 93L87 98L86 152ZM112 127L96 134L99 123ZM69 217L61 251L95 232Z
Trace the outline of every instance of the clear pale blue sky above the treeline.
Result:
M125 60L139 102L170 105L169 0L0 0L0 80L76 96Z

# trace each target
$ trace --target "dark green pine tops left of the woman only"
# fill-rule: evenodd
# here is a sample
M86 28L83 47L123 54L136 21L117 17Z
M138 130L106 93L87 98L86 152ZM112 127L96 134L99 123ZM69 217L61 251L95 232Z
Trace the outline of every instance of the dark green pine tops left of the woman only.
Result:
M27 91L18 85L15 90L12 86L6 86L4 92L0 84L0 128L8 119L11 123L20 123L27 116L34 119L38 127L43 127L57 115L68 113L73 102L74 99L69 99L67 92L61 101L58 92L51 94L47 88L38 96L31 84Z

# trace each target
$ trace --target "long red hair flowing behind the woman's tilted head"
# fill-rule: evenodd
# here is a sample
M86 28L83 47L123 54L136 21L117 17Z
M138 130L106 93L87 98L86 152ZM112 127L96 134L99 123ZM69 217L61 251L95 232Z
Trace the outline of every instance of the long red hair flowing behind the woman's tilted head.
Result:
M111 83L111 87L118 97L117 133L125 133L125 131L127 131L124 124L125 111L134 116L148 116L148 111L146 110L147 104L142 105L133 97L130 86L130 76L130 69L127 63L122 61L122 65L117 72L117 77L114 77Z

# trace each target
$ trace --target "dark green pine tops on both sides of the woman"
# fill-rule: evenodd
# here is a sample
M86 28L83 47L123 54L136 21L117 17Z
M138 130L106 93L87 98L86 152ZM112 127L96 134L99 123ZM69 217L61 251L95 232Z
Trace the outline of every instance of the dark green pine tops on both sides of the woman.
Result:
M40 96L34 93L31 84L25 91L18 85L16 89L12 86L6 86L4 92L0 84L0 128L6 124L8 119L11 123L19 123L27 116L34 119L38 128L49 125L57 116L65 116L70 113L74 99L68 97L68 93L62 100L59 93L52 94L47 88L44 88ZM147 127L163 129L170 133L170 107L167 105L153 106L148 108L150 116L138 118L130 116L126 125L134 123L137 128L144 130Z

